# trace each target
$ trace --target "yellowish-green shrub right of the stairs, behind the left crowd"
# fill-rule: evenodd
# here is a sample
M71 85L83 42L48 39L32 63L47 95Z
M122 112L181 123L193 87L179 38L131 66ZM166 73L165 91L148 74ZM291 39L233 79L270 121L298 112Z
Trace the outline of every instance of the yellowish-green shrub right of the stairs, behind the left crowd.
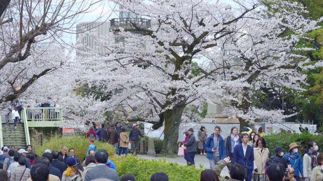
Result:
M94 145L96 146L97 150L105 149L109 154L109 157L115 155L115 148L110 144L95 141ZM74 148L75 156L79 157L81 161L83 161L83 158L85 157L87 148L89 146L89 141L87 138L81 136L65 137L60 135L54 135L51 136L48 140L46 140L46 142L42 146L39 146L38 149L35 151L38 156L41 156L44 153L45 149L49 149L50 151L61 151L62 146L66 146L68 149Z

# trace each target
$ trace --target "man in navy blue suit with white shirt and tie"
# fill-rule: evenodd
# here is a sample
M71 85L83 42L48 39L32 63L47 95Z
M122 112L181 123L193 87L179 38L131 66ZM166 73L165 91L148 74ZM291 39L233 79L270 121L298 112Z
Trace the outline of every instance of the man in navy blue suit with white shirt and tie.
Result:
M250 181L253 170L253 148L248 145L248 134L244 133L241 135L242 143L238 144L234 148L233 159L235 163L240 163L248 167L248 178L246 181Z

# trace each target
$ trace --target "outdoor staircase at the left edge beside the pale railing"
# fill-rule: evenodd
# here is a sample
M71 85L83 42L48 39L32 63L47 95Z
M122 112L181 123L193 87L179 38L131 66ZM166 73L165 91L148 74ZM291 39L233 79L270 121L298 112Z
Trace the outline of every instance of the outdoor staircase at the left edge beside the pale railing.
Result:
M17 129L14 130L15 126L13 121L10 121L7 125L5 117L2 117L0 120L2 121L1 126L3 146L14 145L15 148L26 149L26 134L24 124L17 123Z

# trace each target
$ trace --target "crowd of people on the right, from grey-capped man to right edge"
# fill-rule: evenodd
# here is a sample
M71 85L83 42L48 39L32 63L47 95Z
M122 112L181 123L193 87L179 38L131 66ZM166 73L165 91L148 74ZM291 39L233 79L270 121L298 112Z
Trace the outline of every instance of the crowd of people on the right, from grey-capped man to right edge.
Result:
M232 127L231 134L223 139L220 126L216 126L209 137L203 133L205 127L200 128L198 149L201 150L200 154L206 153L210 165L210 169L202 171L201 180L219 180L218 176L226 165L230 169L229 180L285 180L285 177L293 181L300 181L301 178L305 181L323 179L323 153L317 152L318 146L314 140L308 142L303 158L298 152L301 146L296 143L290 143L289 150L277 145L275 154L271 154L266 148L265 133L261 127L258 133L248 127L242 130L238 133L237 127ZM306 128L302 131L306 131ZM193 128L184 132L185 141L181 142L187 165L194 165L197 152L193 133Z

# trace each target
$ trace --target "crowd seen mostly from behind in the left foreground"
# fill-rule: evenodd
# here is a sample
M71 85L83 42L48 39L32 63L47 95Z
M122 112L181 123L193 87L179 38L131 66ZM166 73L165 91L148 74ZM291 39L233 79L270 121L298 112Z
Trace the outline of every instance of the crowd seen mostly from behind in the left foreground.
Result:
M75 156L75 150L66 146L62 146L61 151L46 149L41 156L31 150L31 145L27 145L26 150L4 146L0 151L0 181L119 181L116 167L106 150L97 150L93 143L94 139L89 139L88 154L83 163ZM135 177L125 174L121 180L135 181ZM168 181L168 176L164 172L156 172L150 180Z

